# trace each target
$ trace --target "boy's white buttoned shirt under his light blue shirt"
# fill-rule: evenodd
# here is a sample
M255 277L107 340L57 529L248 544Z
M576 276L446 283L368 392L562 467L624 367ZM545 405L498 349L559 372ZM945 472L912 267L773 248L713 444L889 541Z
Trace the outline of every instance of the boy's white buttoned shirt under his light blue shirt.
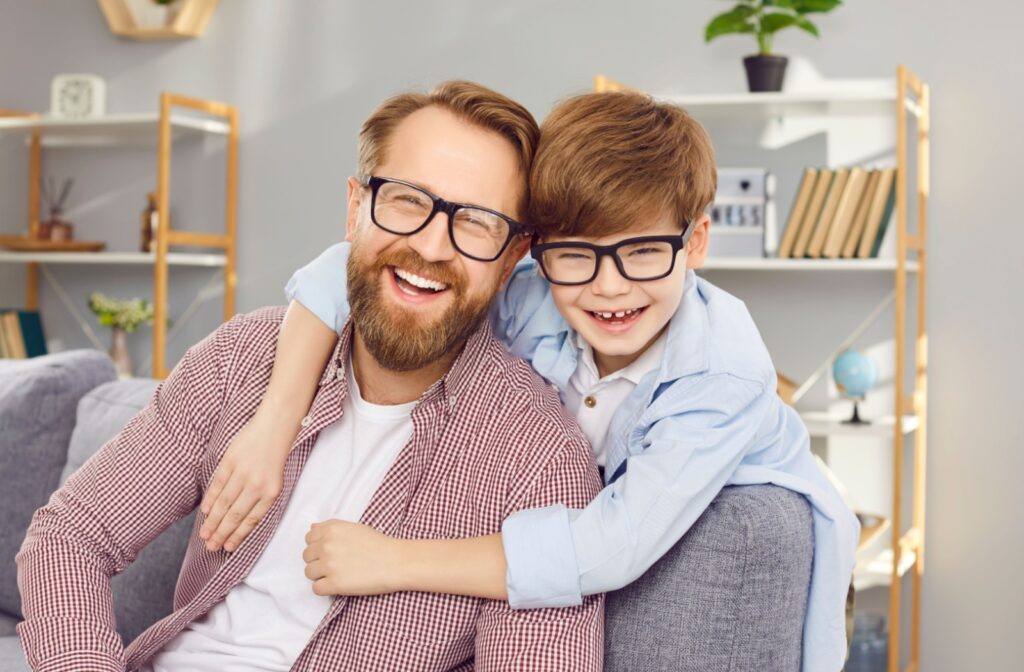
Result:
M604 467L607 459L608 426L618 405L640 384L640 379L656 370L665 353L666 335L663 333L636 361L601 378L594 362L594 350L580 334L573 333L580 356L577 369L565 388L565 408L571 413L594 451L594 461Z

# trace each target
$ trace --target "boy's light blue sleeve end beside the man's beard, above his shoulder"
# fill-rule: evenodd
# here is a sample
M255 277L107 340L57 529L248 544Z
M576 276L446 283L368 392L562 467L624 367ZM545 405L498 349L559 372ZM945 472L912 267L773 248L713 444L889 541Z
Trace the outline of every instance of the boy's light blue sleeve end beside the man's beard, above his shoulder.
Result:
M289 301L306 306L325 325L341 333L348 320L348 243L332 245L302 266L285 286Z

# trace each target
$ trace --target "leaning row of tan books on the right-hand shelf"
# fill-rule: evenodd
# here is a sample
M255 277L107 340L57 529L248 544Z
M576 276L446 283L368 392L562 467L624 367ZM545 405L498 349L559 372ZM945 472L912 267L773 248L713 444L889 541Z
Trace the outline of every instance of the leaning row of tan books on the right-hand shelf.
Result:
M895 168L808 168L790 211L778 256L877 257L892 217L895 187Z

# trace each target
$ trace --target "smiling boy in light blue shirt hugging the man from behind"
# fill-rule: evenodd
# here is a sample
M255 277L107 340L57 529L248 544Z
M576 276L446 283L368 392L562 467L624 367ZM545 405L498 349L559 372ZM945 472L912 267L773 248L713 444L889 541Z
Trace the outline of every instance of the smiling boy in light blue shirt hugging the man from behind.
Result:
M535 262L517 268L492 323L561 391L606 487L586 509L521 511L489 538L398 540L353 524L337 544L340 564L310 579L344 594L425 590L507 597L519 608L579 604L640 577L724 486L772 482L812 507L803 667L839 670L859 527L817 468L799 416L776 394L745 306L694 274L707 254L703 213L715 185L711 142L678 108L630 93L555 108L530 174ZM441 213L429 225L447 221ZM203 530L211 548L231 532L223 519L231 502L243 502L236 518L264 512L238 493L248 492L247 474L272 475L284 463L289 432L348 314L347 254L346 244L332 247L289 283L298 304L282 328L268 411L221 464L221 482L230 476L233 486L219 497L211 488L203 504L213 511ZM395 282L431 291L422 279ZM278 409L291 411L274 418Z

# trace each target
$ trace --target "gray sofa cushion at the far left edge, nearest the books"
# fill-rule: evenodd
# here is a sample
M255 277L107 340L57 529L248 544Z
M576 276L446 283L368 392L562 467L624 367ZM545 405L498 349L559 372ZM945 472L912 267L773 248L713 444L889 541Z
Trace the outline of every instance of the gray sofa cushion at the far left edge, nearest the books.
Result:
M60 482L75 408L116 377L97 350L0 361L0 612L22 615L14 556L32 514Z

